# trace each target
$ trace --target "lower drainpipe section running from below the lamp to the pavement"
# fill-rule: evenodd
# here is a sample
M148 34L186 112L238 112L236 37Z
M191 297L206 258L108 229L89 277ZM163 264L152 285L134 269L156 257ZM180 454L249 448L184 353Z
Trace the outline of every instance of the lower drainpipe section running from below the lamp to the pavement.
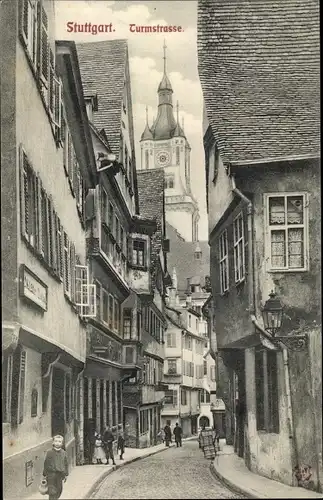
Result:
M255 327L264 335L268 340L272 341L272 336L266 332L262 328L262 326L258 323L256 316L251 315L251 321L255 325ZM289 439L291 441L291 453L292 453L292 484L293 486L298 486L296 481L296 477L294 475L294 469L298 465L298 452L296 446L296 435L295 428L293 423L293 408L292 408L292 397L291 397L291 384L290 384L290 376L289 376L289 367L288 367L288 351L282 342L278 343L279 347L282 349L283 353L283 363L284 363L284 379L285 379L285 391L286 391L286 399L287 399L287 424L288 424L288 433Z

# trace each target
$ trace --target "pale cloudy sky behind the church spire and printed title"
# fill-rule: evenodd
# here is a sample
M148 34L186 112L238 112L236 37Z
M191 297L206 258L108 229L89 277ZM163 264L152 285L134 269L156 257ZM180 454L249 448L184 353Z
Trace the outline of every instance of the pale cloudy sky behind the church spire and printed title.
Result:
M146 106L149 122L157 114L157 87L163 73L163 44L167 46L167 73L173 86L173 104L179 101L180 123L191 145L192 191L200 209L199 237L207 239L205 170L202 137L203 97L197 72L197 2L194 0L78 1L56 0L56 38L95 42L126 38L130 58L130 76L137 165L139 140L145 127ZM109 24L115 32L68 33L67 22ZM131 33L129 24L182 26L182 33Z

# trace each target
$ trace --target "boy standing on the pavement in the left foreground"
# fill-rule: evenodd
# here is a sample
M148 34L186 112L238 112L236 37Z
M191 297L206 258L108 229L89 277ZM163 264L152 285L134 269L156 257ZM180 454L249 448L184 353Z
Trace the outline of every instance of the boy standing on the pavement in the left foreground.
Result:
M63 491L68 476L67 453L63 450L64 438L56 435L53 437L53 447L46 453L43 476L48 486L49 500L58 500Z

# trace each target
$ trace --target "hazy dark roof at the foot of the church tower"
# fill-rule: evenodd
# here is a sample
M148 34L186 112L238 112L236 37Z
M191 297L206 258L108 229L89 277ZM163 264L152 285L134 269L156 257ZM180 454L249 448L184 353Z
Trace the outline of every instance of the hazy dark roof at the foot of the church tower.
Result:
M201 259L195 259L196 242L184 241L176 229L166 223L166 238L170 240L170 252L167 254L167 267L170 275L174 267L177 275L177 290L183 296L187 290L187 280L200 277L204 286L205 276L210 276L210 247L207 241L199 241Z

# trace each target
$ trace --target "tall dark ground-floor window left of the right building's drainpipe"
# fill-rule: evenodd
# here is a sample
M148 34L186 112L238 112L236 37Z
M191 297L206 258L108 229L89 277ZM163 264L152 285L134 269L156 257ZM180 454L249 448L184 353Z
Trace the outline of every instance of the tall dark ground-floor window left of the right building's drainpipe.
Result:
M277 354L255 351L257 430L279 433Z

